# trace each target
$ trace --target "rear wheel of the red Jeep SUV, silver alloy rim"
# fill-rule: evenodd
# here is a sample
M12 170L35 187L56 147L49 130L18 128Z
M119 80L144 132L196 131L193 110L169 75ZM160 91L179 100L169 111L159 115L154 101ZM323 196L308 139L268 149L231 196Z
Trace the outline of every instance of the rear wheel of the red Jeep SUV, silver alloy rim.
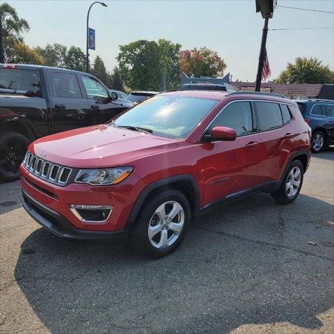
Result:
M280 184L280 188L278 191L271 193L273 199L283 204L294 202L294 200L299 196L299 192L301 191L301 186L303 185L303 175L304 168L303 164L301 164L301 161L292 161L289 168L287 168L287 173L285 173L285 177ZM296 187L297 183L299 184L298 188Z

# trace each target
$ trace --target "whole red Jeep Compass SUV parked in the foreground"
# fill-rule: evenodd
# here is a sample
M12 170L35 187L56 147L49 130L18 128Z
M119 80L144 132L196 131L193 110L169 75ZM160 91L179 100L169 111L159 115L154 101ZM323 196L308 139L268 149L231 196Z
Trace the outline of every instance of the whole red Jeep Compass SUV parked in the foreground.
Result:
M24 208L54 234L129 237L160 257L217 204L257 192L293 202L309 161L310 128L296 103L175 90L108 124L38 139L20 170Z

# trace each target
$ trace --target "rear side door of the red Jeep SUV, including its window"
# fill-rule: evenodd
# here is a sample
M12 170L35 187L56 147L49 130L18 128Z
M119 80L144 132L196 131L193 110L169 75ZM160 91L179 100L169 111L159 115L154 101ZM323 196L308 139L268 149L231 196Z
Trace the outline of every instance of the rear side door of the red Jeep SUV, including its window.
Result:
M289 124L291 115L285 104L282 107L277 102L256 101L254 104L257 129L266 154L259 163L260 182L279 180L289 159L294 138L294 130Z

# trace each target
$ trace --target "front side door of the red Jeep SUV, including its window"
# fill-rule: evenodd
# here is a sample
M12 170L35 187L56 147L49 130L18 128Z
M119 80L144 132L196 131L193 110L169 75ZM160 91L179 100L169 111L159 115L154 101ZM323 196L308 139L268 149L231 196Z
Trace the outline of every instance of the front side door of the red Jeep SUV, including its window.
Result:
M205 156L204 206L257 185L257 167L264 156L251 102L228 104L212 122L209 131L218 125L234 129L237 138L235 141L202 144Z

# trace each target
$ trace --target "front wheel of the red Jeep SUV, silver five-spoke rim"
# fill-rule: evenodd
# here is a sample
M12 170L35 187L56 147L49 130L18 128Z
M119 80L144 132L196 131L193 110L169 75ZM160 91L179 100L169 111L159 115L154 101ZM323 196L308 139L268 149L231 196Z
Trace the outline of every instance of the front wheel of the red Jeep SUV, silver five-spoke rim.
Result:
M130 234L134 249L156 259L172 253L184 239L191 219L190 205L184 194L177 190L155 193L142 209ZM178 213L170 218L174 210Z

